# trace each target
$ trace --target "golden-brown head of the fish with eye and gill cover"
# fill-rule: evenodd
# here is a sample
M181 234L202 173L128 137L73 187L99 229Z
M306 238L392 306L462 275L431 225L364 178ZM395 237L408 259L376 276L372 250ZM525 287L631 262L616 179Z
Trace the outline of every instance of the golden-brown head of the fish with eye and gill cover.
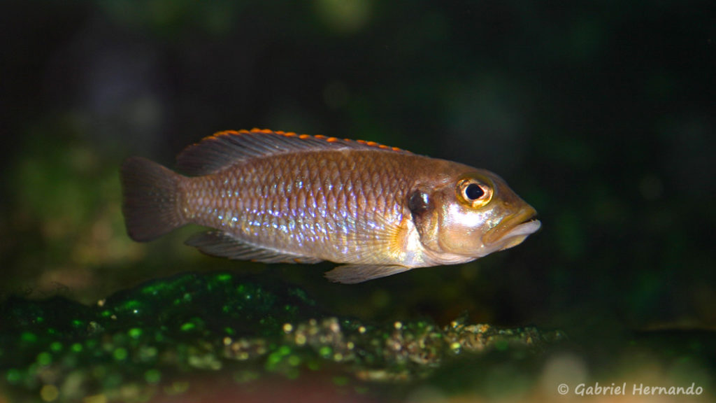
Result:
M541 223L499 176L473 169L409 202L420 242L437 263L467 262L521 244ZM414 207L423 207L422 209Z

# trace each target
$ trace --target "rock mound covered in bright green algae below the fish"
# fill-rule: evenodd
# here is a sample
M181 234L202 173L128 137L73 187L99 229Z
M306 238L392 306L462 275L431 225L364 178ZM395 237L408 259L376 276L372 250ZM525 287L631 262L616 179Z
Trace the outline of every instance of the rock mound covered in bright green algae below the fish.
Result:
M0 314L2 379L41 399L43 387L57 387L57 402L112 401L120 389L120 400L142 401L176 382L183 389L183 376L197 371L228 371L238 383L328 371L335 387L361 389L362 381L423 379L461 355L531 351L560 338L463 321L363 323L322 311L304 290L226 273L155 280L93 306L15 298Z

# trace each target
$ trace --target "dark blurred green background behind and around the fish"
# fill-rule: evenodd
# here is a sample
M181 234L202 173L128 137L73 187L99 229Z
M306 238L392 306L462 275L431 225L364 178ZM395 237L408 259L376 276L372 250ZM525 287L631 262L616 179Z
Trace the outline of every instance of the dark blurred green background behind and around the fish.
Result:
M4 1L0 293L92 303L178 272L336 313L572 334L716 326L710 1ZM332 284L132 242L118 167L225 129L379 141L495 171L543 229L467 265Z

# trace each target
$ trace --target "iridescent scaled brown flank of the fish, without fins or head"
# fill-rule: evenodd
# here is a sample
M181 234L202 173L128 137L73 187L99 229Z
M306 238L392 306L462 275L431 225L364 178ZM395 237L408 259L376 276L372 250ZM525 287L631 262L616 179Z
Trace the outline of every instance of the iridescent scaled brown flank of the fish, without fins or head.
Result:
M252 244L261 242L295 255L310 246L326 260L337 259L337 253L344 250L334 253L334 241L326 236L327 229L337 230L339 239L347 245L357 242L359 236L350 226L351 217L371 223L400 221L400 206L395 197L386 195L405 194L406 189L402 179L393 181L393 189L386 180L393 174L385 169L391 165L390 158L381 164L381 170L361 172L354 167L367 163L364 152L354 151L349 158L339 159L332 158L331 153L335 152L322 158L278 155L236 164L211 177L190 178L184 185L186 217L206 227L228 227L228 232ZM289 186L296 181L303 185ZM339 185L324 186L326 183ZM234 184L239 189L236 196ZM207 193L213 203L201 209L197 195ZM227 200L231 202L227 204ZM386 215L388 212L390 215ZM289 232L289 228L298 232Z

